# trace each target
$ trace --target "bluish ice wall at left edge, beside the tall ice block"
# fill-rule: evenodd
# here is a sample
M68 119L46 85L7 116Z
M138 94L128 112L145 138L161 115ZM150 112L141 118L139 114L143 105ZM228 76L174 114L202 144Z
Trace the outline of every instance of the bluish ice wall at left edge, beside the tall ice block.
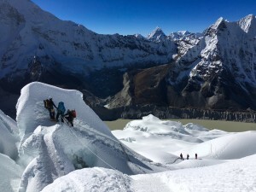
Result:
M0 153L15 160L18 157L20 137L16 122L0 110Z

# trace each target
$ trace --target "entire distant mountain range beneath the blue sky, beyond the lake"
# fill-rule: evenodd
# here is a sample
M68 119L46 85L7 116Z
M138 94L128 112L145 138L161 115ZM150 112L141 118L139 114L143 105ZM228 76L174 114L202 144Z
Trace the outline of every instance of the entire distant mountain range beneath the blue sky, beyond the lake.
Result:
M0 9L0 95L13 106L22 86L41 81L81 90L91 106L256 109L254 15L144 38L97 34L28 0Z

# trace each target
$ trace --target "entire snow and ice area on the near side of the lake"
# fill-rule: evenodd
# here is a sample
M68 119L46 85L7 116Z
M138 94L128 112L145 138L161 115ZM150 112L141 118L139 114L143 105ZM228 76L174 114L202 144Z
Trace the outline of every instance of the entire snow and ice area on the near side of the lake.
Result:
M49 121L48 96L76 109L73 128ZM0 111L1 191L256 190L256 131L210 131L151 114L109 131L82 98L34 82L21 90L16 122Z

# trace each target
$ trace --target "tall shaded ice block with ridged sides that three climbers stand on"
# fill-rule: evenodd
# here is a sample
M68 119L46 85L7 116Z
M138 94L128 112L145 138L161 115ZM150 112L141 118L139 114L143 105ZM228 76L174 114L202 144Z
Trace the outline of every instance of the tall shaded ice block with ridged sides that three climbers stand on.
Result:
M51 96L57 105L75 109L71 128L49 120L43 100ZM17 103L20 130L20 163L26 166L20 192L40 191L57 177L84 167L102 166L126 174L159 172L166 168L126 148L83 101L78 90L64 90L48 84L31 83Z

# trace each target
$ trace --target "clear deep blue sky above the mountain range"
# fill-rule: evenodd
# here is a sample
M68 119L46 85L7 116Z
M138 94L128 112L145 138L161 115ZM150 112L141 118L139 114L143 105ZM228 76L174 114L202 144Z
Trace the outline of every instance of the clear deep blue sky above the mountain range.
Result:
M168 35L202 32L219 17L236 21L256 15L256 0L32 0L61 20L93 32L147 36L156 26Z

